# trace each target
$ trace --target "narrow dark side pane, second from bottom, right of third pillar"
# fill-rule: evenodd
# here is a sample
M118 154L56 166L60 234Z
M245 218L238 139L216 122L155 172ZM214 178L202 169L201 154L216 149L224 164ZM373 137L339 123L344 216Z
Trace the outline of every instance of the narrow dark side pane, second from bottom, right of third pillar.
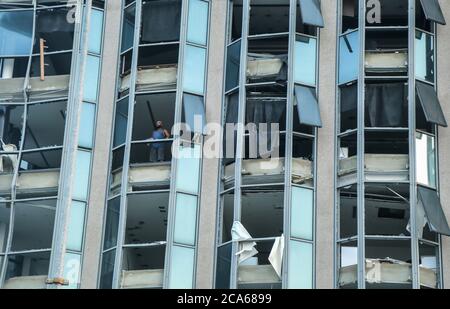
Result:
M351 185L339 189L339 239L354 237L358 233L357 187Z

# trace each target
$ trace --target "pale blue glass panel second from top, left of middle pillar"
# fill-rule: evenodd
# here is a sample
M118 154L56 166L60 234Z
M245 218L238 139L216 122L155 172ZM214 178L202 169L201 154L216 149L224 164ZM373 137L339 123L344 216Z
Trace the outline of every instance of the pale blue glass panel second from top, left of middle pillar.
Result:
M187 92L203 94L206 49L186 45L184 56L183 88Z

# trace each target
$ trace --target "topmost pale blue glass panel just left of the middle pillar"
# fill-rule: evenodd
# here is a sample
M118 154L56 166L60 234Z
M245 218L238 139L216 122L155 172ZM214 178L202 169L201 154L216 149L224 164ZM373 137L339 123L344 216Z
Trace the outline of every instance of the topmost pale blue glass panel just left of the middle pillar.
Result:
M189 0L187 40L206 46L208 31L208 2Z

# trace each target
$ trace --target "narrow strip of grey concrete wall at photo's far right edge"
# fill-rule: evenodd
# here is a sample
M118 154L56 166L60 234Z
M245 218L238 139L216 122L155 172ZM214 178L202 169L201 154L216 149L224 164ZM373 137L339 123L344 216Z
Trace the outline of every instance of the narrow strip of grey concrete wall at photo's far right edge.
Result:
M450 20L450 1L439 1ZM441 106L447 121L450 121L450 27L439 26L437 30L437 86ZM450 129L439 128L439 179L442 207L450 221ZM442 263L444 288L450 288L450 238L442 237Z

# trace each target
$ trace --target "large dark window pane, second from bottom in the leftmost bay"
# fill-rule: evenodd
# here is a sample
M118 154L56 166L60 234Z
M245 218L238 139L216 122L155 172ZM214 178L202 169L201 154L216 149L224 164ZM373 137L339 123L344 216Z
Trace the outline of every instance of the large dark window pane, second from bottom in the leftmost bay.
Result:
M11 251L52 247L56 200L35 200L14 204Z

